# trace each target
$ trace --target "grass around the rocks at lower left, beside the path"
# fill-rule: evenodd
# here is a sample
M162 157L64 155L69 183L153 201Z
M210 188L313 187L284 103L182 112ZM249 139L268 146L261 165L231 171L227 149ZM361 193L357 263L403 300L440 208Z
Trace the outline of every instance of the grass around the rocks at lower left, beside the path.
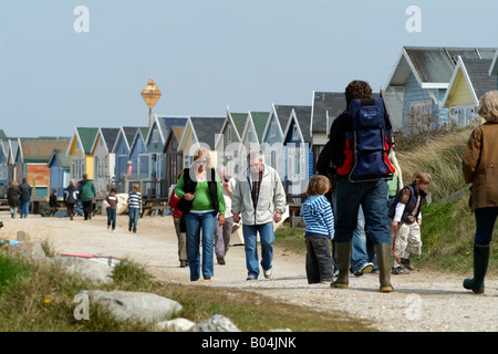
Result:
M289 327L294 332L370 331L366 322L339 312L315 312L255 292L185 287L155 281L133 262L116 266L112 285L94 285L59 267L28 262L0 250L0 332L141 332L148 324L115 321L105 309L90 306L90 320L76 320L74 296L82 290L152 292L178 301L178 315L196 323L214 314L229 317L245 332Z

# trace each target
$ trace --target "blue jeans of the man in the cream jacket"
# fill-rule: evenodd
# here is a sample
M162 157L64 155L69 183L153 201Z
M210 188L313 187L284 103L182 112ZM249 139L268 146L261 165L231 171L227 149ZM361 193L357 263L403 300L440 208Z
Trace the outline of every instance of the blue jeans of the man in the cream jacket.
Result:
M273 221L261 225L242 225L246 267L248 275L256 278L259 275L257 232L261 240L261 267L263 270L269 270L273 260Z

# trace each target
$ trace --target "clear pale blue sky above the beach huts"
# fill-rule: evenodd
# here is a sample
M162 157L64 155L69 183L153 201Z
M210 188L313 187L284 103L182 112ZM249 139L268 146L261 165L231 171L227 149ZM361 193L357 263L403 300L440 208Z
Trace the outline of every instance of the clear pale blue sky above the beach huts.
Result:
M352 80L378 91L404 45L497 48L496 13L490 0L1 0L0 129L147 126L151 77L166 116L311 105Z

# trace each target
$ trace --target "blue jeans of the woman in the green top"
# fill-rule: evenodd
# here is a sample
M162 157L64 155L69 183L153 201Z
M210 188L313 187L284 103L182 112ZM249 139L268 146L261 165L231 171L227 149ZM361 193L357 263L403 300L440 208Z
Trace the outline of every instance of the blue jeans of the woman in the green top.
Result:
M187 226L187 257L188 267L190 268L190 280L195 281L200 277L200 241L203 241L203 275L212 277L215 273L214 233L216 212L188 212L185 215L185 225ZM200 240L200 229L203 229L203 240Z

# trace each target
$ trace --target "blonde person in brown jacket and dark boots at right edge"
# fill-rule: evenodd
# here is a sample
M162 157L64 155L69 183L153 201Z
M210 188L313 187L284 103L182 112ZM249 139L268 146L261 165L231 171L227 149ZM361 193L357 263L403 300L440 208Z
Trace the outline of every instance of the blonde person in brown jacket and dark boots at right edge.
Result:
M471 133L461 160L464 179L473 184L469 207L476 218L474 278L466 279L464 288L484 293L489 243L498 216L498 91L480 97L478 113L486 123Z

